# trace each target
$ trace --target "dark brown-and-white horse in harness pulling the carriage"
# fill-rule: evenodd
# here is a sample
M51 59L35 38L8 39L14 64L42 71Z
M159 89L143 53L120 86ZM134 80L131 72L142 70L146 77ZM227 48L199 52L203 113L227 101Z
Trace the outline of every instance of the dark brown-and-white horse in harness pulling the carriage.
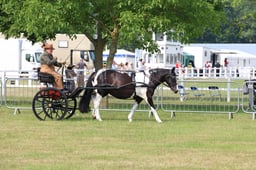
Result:
M129 122L132 122L132 116L138 105L145 100L155 120L161 123L152 97L155 89L162 83L174 93L178 92L175 67L172 69L156 68L140 72L100 69L89 76L84 94L79 102L79 110L81 113L88 113L90 111L90 100L92 99L94 107L92 114L95 115L98 121L102 121L99 106L103 97L108 94L118 99L128 99L133 96L135 103L128 115Z

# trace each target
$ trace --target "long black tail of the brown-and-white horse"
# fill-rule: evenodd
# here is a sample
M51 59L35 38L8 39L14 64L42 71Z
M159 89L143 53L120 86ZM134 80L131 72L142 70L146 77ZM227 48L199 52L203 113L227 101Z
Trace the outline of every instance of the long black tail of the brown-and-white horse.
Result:
M91 96L92 96L92 92L93 92L93 86L92 86L93 78L94 78L94 73L88 78L84 95L80 99L79 111L81 113L88 113L90 111L89 105L90 105Z

